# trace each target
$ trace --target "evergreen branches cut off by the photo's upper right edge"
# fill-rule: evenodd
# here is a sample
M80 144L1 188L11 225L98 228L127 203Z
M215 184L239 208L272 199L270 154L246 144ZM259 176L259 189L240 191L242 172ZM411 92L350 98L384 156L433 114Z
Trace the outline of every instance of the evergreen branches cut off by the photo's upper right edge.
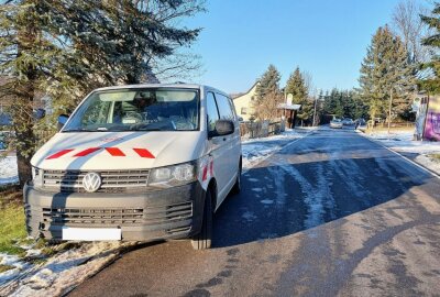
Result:
M422 40L422 44L435 48L438 53L440 48L440 3L435 4L431 16L421 15L421 21L432 31L432 35ZM431 94L440 92L440 55L432 56L432 59L422 64L421 68L428 69L430 75L419 81L420 89Z

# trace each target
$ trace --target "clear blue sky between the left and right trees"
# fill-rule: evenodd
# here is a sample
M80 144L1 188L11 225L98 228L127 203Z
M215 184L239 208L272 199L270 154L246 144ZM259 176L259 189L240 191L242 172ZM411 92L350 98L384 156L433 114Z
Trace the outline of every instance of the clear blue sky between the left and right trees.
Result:
M420 0L422 1L422 0ZM371 37L398 0L211 0L189 20L204 28L191 51L204 73L194 82L246 91L274 64L282 87L299 66L318 89L358 86Z

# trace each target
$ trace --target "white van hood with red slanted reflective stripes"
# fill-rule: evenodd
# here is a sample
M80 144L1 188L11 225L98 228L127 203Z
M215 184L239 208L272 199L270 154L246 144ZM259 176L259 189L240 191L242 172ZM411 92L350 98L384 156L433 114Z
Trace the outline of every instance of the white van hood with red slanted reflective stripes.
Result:
M42 169L143 169L204 155L200 131L57 133L32 157Z

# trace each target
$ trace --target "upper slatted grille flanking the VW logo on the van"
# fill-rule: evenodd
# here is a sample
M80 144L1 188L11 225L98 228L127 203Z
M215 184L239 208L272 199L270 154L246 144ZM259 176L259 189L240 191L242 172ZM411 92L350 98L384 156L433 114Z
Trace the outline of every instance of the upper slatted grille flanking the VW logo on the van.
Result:
M43 188L63 193L85 193L82 178L89 172L44 170ZM146 189L150 170L107 170L96 172L102 184L98 193L143 191Z

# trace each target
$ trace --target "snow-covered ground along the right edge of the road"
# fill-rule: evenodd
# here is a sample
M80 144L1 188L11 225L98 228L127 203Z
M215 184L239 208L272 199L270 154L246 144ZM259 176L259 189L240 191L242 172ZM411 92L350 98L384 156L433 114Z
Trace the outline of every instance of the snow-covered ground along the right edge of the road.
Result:
M440 154L440 142L414 141L413 131L392 132L389 135L387 132L375 132L365 135L440 174L440 162L429 156Z

